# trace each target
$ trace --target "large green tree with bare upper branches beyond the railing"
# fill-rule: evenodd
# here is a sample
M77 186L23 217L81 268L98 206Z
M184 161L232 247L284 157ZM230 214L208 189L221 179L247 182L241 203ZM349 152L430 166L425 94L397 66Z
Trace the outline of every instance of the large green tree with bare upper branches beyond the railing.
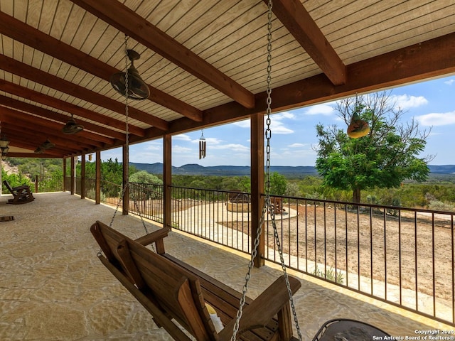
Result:
M405 112L395 109L395 104L390 92L337 102L338 117L346 124L354 114L370 124L369 133L358 139L351 139L336 125L316 126L316 169L324 186L352 190L353 202L360 202L362 190L397 188L405 179L427 178L432 156L417 156L424 151L429 131L420 130L414 119L400 123Z

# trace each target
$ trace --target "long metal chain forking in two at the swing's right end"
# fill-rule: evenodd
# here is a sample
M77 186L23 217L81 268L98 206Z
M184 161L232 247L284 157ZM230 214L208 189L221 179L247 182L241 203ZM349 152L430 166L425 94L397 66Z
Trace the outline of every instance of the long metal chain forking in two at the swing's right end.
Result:
M239 330L240 319L242 318L242 311L243 311L243 307L245 305L245 300L246 300L247 291L248 291L248 284L249 284L250 278L251 278L251 271L252 271L252 267L254 264L254 260L257 256L257 247L259 246L259 237L262 234L262 224L264 224L264 217L267 214L267 209L270 212L270 218L272 220L272 225L273 225L273 229L274 229L274 238L275 238L275 241L277 242L279 257L280 257L280 261L282 263L284 278L286 281L287 291L289 294L289 300L291 303L292 315L294 315L294 323L296 325L296 330L299 335L299 341L302 340L299 322L297 320L294 300L292 298L291 285L289 284L289 278L288 278L287 271L286 271L286 265L284 264L283 251L282 251L281 243L279 242L277 224L275 222L275 212L272 207L272 203L270 202L270 139L272 138L272 130L270 129L270 126L272 124L272 121L270 119L270 114L272 113L272 109L271 109L271 107L272 107L272 86L271 86L271 84L272 84L272 0L269 0L267 18L268 18L268 22L267 22L267 110L266 110L267 129L265 131L265 137L267 139L267 147L266 147L266 155L267 155L266 160L267 161L266 161L266 181L265 181L266 197L265 197L264 206L262 207L262 215L259 219L259 226L257 227L257 235L255 238L255 242L253 244L250 263L248 264L248 271L245 276L245 285L242 288L242 298L240 299L240 307L239 307L239 310L237 311L237 317L235 320L235 325L233 328L232 337L231 337L230 341L235 341L235 338L237 337L237 332Z

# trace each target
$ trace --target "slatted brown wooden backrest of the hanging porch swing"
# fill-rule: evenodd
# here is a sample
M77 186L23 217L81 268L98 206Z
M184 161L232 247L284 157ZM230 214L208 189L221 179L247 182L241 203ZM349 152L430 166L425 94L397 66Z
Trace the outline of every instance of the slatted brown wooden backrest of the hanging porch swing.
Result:
M145 308L149 308L150 303L154 305L153 312L147 310L159 325L166 326L171 335L178 334L180 329L171 321L174 318L196 340L218 340L196 276L102 222L93 224L91 231L106 261L117 269L118 274L114 275L122 283L126 280L133 284L127 288ZM139 299L140 293L145 297ZM166 313L156 314L158 310Z

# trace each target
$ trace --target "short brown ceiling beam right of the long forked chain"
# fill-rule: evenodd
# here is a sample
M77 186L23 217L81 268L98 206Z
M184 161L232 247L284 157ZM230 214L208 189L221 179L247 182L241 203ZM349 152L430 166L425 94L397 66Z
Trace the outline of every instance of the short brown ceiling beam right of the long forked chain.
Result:
M346 66L300 0L274 0L272 11L333 85L346 83Z

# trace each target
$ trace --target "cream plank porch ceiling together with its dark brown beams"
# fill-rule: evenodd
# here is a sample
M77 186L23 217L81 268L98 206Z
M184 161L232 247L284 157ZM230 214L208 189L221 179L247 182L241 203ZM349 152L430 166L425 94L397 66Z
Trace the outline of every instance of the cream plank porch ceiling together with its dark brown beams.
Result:
M133 143L263 113L267 0L0 0L1 134L9 156L121 146L124 41L149 85L129 101ZM274 0L272 107L455 72L453 0ZM85 129L61 132L73 115ZM55 147L33 151L49 139Z

